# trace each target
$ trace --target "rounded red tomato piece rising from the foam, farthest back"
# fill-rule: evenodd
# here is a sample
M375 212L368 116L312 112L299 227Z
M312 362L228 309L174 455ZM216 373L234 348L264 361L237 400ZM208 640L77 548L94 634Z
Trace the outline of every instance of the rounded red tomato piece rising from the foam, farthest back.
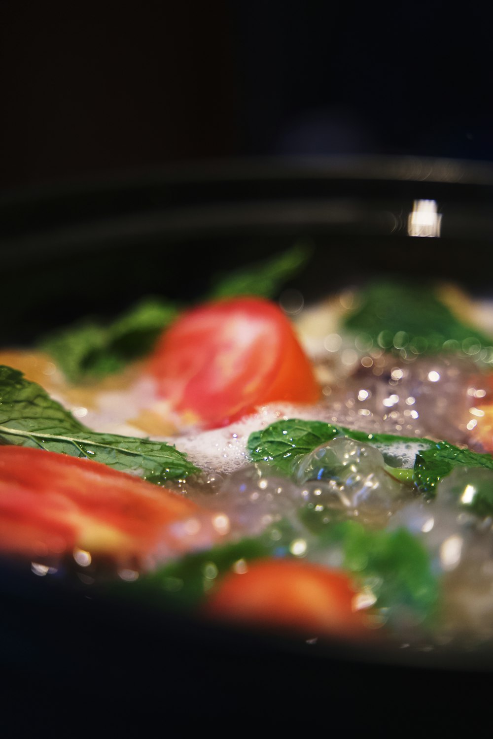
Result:
M314 403L320 392L288 318L254 297L188 311L163 334L149 367L174 411L208 427L271 401Z

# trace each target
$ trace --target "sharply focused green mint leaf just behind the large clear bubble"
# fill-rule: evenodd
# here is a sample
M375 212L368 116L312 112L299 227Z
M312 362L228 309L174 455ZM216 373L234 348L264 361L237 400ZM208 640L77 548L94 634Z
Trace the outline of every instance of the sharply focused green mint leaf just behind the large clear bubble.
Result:
M271 423L262 431L251 434L248 438L248 451L253 462L266 462L283 474L291 475L305 454L338 436L347 436L375 446L384 455L385 462L392 467L398 467L398 464L392 462L397 461L402 446L418 451L428 449L434 444L428 439L368 434L324 421L290 418Z

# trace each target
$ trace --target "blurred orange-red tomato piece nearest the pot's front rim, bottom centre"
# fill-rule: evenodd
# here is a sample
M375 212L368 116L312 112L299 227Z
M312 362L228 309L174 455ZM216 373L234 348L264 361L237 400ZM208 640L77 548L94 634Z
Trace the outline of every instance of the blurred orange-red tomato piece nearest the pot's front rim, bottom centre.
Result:
M265 559L225 576L210 591L205 611L214 618L350 638L369 633L366 614L353 608L355 596L356 586L342 572Z

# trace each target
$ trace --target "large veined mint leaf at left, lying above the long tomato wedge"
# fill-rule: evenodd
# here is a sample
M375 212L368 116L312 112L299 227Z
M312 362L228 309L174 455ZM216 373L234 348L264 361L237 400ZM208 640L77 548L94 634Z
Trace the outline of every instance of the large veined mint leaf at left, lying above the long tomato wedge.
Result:
M5 366L0 366L0 443L87 457L157 484L198 471L169 444L91 431L41 386Z

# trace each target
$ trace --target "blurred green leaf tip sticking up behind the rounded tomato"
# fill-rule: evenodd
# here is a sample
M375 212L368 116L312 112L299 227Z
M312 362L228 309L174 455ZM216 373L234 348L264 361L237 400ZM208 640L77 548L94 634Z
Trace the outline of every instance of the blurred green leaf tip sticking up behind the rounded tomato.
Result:
M272 259L236 272L223 273L215 279L208 297L217 299L237 295L259 295L273 298L285 282L305 267L311 254L311 248L299 244L273 256Z

